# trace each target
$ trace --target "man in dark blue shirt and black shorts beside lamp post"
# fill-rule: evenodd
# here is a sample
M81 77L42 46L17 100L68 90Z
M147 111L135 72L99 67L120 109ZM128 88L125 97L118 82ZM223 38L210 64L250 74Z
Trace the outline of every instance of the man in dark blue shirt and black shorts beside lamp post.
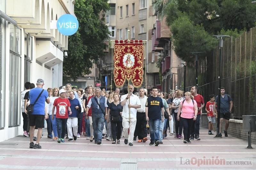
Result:
M231 110L233 107L233 101L228 94L225 94L225 87L220 87L220 96L221 96L220 97L220 135L221 135L222 122L224 118L225 130L223 131L223 133L225 134L225 137L228 137L227 130L228 130ZM218 103L218 96L216 96L215 98L213 108L216 107L217 103Z

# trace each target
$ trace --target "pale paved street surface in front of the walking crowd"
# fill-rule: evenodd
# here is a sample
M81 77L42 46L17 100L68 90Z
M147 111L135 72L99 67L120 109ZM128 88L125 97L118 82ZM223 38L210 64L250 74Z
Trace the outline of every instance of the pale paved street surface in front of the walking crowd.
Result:
M46 129L44 132L47 131ZM215 132L216 133L216 132ZM18 136L0 143L0 169L255 169L256 150L246 149L247 141L232 137L213 138L200 129L200 141L184 144L169 136L158 147L134 141L134 146L102 144L86 140L58 144L41 139L42 149L29 149L29 138ZM149 138L149 136L148 136ZM252 145L256 148L256 145Z

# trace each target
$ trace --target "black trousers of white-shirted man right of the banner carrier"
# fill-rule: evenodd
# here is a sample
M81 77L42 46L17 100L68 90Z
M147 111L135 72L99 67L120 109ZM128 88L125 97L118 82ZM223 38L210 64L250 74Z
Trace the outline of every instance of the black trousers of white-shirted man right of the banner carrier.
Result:
M134 137L138 136L138 139L143 139L144 137L147 137L147 120L146 120L146 114L137 112L137 122L136 127L134 131Z

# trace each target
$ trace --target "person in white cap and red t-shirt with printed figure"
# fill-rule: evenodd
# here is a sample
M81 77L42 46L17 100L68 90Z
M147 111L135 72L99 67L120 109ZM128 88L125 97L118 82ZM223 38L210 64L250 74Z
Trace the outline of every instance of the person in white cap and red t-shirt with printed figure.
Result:
M66 92L66 90L60 89L60 97L54 100L52 107L52 120L54 119L54 110L56 107L58 143L65 142L64 137L67 129L68 113L69 115L72 114Z

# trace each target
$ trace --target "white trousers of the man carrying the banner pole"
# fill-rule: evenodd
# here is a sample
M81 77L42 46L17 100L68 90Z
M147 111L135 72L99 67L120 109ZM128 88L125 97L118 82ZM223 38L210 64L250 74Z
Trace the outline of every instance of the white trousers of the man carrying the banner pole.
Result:
M123 117L123 116L122 116ZM123 130L124 130L124 139L128 139L128 143L133 143L133 135L136 127L136 118L131 118L129 123L129 118L123 117ZM128 134L129 129L129 134Z

